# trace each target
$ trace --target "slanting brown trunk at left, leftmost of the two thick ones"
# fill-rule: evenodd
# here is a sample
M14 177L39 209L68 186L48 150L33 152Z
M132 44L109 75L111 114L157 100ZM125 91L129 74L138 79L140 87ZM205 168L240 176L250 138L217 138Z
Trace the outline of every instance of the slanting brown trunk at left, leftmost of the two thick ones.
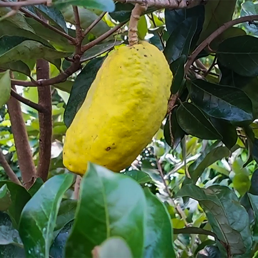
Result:
M15 86L12 86L15 91ZM32 158L25 122L22 117L21 106L18 100L10 97L7 102L8 113L10 115L12 133L15 140L15 148L18 157L18 164L21 170L21 177L24 186L28 189L33 184L36 177L36 168Z

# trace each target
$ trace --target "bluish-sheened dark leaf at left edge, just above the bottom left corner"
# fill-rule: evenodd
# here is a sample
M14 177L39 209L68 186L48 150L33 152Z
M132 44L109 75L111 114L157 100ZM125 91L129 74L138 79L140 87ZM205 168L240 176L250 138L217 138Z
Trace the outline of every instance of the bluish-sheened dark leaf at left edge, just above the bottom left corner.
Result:
M22 246L19 233L13 227L10 217L8 216L8 214L0 212L0 245L12 243L18 246Z

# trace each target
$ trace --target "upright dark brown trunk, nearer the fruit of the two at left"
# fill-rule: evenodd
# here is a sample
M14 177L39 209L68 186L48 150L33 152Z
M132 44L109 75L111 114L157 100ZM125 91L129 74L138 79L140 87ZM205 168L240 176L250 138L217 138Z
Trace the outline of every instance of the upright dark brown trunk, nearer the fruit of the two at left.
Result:
M40 59L37 61L37 79L49 78L49 63ZM39 105L45 108L44 113L39 113L39 163L37 176L45 182L47 180L52 144L52 98L50 86L38 87Z

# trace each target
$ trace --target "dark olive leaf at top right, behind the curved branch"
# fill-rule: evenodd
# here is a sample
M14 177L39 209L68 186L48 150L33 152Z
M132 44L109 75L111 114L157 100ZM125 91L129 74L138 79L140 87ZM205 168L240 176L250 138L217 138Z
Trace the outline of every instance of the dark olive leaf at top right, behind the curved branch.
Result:
M236 0L212 0L205 5L205 20L200 39L197 44L208 38L224 23L231 21L235 10ZM215 46L224 39L223 34L216 37L213 41ZM212 45L213 45L212 44ZM213 46L212 46L213 47Z

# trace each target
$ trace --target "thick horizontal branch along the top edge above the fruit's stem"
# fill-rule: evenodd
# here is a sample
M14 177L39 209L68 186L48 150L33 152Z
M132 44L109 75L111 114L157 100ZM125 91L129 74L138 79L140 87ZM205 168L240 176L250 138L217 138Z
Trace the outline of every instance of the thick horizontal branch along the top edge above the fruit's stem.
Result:
M206 4L208 0L117 0L121 3L148 4L157 8L182 9L192 8L196 5Z

